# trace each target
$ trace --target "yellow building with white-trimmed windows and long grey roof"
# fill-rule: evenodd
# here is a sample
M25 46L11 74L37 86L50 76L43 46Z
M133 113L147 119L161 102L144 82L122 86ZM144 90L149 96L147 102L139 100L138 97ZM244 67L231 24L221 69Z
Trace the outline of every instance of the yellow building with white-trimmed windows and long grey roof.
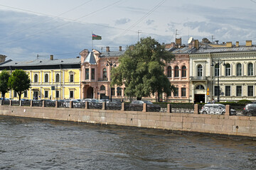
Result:
M80 58L33 60L14 62L7 60L0 64L1 70L23 69L31 79L31 89L25 91L25 99L72 99L80 98ZM9 91L6 98L18 99L15 91Z

